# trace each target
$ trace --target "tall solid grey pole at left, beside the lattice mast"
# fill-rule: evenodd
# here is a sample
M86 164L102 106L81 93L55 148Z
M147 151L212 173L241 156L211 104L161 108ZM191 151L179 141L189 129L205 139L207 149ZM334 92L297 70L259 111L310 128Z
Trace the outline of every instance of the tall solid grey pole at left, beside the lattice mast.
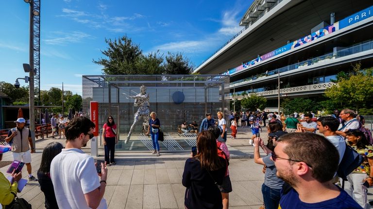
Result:
M35 147L35 104L34 104L34 2L30 1L30 80L29 80L29 92L30 92L30 100L29 100L29 108L30 108L30 131L31 131L31 139L33 140L33 147Z

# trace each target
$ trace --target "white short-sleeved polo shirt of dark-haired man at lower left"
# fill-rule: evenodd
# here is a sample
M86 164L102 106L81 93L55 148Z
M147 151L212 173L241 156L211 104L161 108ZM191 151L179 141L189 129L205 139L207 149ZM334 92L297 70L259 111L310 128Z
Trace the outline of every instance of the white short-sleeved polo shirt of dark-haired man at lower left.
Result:
M51 162L51 179L58 207L89 209L84 194L100 187L95 161L81 149L62 149ZM102 198L98 209L106 209Z

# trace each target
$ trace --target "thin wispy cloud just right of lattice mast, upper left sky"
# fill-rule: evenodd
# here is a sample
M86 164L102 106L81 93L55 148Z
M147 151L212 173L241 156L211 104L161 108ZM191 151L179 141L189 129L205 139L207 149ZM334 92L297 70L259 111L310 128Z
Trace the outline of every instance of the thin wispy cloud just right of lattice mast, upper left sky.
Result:
M91 35L85 32L52 32L54 37L44 39L44 42L49 45L65 45L68 43L79 43L86 38L92 38ZM57 37L56 37L57 36Z

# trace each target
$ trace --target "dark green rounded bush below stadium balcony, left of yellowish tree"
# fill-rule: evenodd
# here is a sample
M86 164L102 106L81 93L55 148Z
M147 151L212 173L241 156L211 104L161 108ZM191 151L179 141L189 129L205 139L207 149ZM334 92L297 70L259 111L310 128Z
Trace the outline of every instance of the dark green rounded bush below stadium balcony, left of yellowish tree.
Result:
M305 113L310 111L316 113L319 109L317 102L305 98L287 99L284 100L281 106L283 107L282 112L284 112L284 114L291 114L294 112Z

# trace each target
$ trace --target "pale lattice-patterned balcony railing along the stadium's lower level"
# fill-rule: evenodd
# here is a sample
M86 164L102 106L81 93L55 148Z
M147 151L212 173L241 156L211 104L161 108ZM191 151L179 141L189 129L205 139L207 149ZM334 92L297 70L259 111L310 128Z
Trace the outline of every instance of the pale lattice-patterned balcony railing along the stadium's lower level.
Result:
M302 92L310 93L312 91L325 90L333 85L335 85L335 83L328 82L328 83L318 83L318 84L312 84L312 85L283 88L283 89L280 89L280 94L282 94L282 96L286 96L286 94L292 94L292 93L302 93ZM256 94L258 96L276 96L278 95L278 90L276 89L276 90L270 90L270 91L264 91L264 92L249 93L247 96L250 96L253 94ZM245 96L239 95L235 97L236 99L241 99ZM230 99L233 99L233 96L230 96Z

